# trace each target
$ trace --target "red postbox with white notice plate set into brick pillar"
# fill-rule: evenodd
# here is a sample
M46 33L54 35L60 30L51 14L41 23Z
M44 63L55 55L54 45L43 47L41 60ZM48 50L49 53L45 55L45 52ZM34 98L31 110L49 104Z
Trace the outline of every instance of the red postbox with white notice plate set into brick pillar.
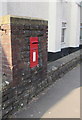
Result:
M30 37L30 67L38 64L38 37Z

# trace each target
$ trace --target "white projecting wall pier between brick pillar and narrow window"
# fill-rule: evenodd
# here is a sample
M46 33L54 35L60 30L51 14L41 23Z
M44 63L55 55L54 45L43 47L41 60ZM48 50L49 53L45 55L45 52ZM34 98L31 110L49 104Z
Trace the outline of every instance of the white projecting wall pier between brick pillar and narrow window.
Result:
M49 3L48 51L61 50L62 5L61 2Z

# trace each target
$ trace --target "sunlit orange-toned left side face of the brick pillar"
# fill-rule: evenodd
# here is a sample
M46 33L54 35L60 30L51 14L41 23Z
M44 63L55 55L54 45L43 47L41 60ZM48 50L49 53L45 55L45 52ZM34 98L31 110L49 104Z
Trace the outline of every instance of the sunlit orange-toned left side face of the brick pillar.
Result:
M6 80L12 81L12 47L10 24L1 25L2 73Z

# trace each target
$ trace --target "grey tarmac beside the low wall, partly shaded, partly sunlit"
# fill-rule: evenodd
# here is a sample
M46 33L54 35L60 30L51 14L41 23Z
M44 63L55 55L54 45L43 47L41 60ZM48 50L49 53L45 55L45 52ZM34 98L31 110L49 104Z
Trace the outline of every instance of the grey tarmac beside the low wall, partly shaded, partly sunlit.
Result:
M40 93L13 118L80 118L80 65Z

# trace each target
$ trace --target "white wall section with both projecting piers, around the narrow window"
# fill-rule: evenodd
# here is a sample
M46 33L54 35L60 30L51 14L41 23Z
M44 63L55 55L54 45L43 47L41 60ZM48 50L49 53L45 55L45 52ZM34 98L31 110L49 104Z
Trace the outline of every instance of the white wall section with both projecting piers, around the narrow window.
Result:
M67 22L64 43L61 43L62 22ZM48 51L58 52L66 47L79 47L80 7L75 2L49 4Z

